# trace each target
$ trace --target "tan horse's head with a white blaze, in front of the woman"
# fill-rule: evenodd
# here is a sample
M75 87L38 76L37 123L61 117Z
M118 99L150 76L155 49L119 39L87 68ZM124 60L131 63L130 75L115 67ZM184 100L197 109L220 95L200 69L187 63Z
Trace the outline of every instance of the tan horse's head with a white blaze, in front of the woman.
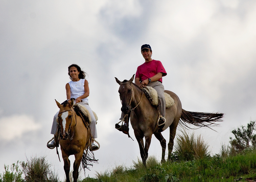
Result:
M56 100L55 100L56 101ZM64 102L60 104L58 101L56 101L57 106L60 108L57 123L60 126L60 138L66 140L68 136L70 135L70 130L72 128L72 122L73 121L73 115L75 117L73 104L74 101L71 100L71 102ZM70 136L69 136L70 138Z

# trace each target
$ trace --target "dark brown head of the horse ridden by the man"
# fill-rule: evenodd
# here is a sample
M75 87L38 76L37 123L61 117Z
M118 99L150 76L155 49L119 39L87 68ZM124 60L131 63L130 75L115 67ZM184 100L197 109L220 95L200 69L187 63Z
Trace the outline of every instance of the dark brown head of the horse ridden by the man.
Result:
M120 85L119 87L119 96L122 102L121 111L125 114L130 112L131 107L131 99L132 99L132 81L134 79L134 75L130 80L119 81L119 79L115 78L115 81Z

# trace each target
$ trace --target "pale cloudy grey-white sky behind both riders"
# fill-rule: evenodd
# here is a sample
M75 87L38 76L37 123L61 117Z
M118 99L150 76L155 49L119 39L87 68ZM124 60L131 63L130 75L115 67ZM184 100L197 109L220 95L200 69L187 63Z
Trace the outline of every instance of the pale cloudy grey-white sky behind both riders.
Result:
M55 99L66 99L71 64L87 73L89 105L99 117L99 163L85 175L130 167L140 159L137 142L114 128L121 115L114 77L132 77L145 61L143 44L150 44L152 58L164 65L165 89L178 95L183 109L224 113L216 132L188 130L202 136L212 155L234 137L232 130L256 120L255 1L3 0L0 173L4 164L44 156L64 179L63 161L46 143L58 111ZM169 139L169 129L162 134ZM130 135L135 139L132 128ZM149 156L160 161L154 137Z

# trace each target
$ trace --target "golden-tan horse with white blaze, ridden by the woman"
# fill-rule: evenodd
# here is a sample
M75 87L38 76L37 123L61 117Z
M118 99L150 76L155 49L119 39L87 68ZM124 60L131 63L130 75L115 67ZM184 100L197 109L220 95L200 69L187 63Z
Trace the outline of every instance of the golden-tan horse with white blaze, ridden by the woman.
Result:
M60 130L59 144L64 161L66 181L70 181L70 161L68 157L74 155L73 179L74 182L76 182L79 175L78 170L81 161L84 169L87 168L88 160L97 161L94 159L94 156L93 159L88 159L88 146L90 146L89 124L85 126L86 124L83 123L82 118L74 111L73 100L70 103L64 102L60 104L57 101L56 103L60 108L57 120ZM86 154L84 153L84 150L86 150Z

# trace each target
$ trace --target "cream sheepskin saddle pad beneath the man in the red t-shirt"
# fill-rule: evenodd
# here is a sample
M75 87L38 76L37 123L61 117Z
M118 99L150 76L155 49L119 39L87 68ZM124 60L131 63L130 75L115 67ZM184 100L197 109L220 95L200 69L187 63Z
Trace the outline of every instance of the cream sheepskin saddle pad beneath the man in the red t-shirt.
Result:
M158 97L157 97L156 90L151 86L146 86L145 88L143 88L143 91L144 91L146 97L151 102L151 104L154 106L157 106L158 105ZM165 93L165 99L166 99L166 108L172 107L174 105L175 101L169 94Z

